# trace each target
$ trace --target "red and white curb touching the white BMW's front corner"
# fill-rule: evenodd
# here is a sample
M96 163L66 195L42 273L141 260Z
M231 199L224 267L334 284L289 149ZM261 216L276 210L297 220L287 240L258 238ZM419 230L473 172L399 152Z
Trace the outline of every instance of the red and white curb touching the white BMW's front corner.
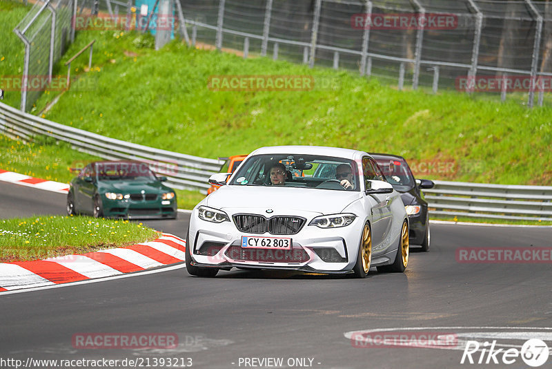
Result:
M172 234L161 235L151 242L123 248L0 263L0 292L117 276L184 261L186 241Z

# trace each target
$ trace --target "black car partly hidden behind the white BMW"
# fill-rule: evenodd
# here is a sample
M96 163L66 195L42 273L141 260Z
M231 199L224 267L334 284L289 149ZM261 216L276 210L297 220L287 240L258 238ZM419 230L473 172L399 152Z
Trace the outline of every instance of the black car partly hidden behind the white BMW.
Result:
M433 188L433 181L415 179L402 156L384 153L371 153L370 155L382 169L386 180L397 192L401 193L402 202L404 202L406 214L410 220L410 243L422 245L422 250L428 251L430 243L429 214L427 202L420 189Z

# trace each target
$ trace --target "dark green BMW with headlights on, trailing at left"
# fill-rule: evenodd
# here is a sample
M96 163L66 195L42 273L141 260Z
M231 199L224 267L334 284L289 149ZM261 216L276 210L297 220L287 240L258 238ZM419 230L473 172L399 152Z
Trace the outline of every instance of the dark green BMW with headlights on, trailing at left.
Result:
M144 162L101 161L84 167L70 183L67 214L95 218L176 218L175 191Z

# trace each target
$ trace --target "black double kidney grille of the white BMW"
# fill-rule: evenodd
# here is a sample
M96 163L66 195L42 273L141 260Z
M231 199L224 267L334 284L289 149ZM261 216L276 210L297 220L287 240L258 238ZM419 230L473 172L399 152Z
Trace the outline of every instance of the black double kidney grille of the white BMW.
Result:
M306 223L299 216L273 216L265 218L256 214L236 214L234 223L239 231L262 234L297 234Z

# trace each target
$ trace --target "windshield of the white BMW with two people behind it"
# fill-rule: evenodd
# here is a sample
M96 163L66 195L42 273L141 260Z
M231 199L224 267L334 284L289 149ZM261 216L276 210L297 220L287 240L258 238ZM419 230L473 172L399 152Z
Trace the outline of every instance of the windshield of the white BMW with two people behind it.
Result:
M353 160L319 155L255 155L235 173L228 185L282 186L307 189L359 191L358 169ZM339 178L337 178L339 175Z

